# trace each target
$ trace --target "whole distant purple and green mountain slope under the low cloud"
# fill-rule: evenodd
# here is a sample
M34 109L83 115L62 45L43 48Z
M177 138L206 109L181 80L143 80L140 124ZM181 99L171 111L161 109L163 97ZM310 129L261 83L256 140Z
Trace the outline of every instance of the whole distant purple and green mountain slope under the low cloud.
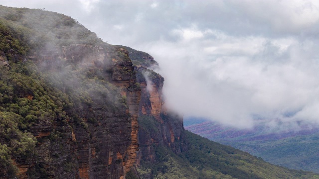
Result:
M185 128L212 141L233 146L275 165L319 173L317 128L280 132L257 126L252 130L238 130L210 121L194 121L186 120Z

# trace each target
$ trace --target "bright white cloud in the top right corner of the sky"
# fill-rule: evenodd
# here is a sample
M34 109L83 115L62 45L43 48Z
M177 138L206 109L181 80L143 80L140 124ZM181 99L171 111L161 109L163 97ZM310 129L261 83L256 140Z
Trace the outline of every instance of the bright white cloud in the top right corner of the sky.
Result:
M232 0L231 5L253 21L268 23L276 31L299 31L319 20L315 0Z

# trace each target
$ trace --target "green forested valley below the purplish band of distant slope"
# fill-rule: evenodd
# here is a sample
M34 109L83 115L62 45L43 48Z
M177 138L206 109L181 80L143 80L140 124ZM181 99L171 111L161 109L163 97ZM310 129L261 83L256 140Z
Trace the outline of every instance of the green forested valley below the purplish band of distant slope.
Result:
M318 132L278 140L227 142L240 150L262 157L265 161L296 170L319 173Z

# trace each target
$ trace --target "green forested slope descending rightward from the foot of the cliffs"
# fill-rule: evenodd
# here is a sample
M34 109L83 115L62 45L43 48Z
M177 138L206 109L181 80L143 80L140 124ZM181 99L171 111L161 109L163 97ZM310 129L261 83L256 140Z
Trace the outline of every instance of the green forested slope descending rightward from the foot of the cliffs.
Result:
M189 150L179 155L156 147L156 164L142 164L154 179L319 179L319 175L266 163L261 158L185 131Z

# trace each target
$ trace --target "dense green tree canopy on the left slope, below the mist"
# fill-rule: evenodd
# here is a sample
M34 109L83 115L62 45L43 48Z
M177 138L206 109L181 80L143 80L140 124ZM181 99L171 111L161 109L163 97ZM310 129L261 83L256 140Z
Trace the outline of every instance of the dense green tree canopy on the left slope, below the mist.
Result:
M30 133L35 123L66 120L68 98L40 78L31 62L0 67L0 173L14 176L12 160L31 162L37 140ZM31 96L31 97L30 97Z

